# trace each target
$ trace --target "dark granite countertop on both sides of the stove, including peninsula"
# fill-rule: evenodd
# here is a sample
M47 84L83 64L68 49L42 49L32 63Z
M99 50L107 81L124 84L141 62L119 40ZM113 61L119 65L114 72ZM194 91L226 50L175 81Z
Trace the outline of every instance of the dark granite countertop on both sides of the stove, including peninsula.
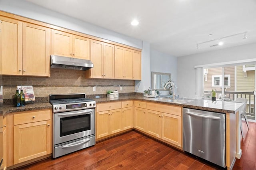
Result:
M157 97L156 97L157 98ZM128 95L128 96L121 96L118 98L94 98L97 103L106 103L106 102L118 102L118 101L126 101L126 100L141 100L146 102L154 102L154 103L162 103L168 105L176 105L191 109L200 109L205 111L213 111L219 113L236 113L239 108L243 105L242 103L230 102L230 101L210 101L210 100L203 100L203 99L189 99L192 100L191 102L179 104L179 103L170 103L165 101L156 101L156 98L149 98L143 97L140 95ZM4 105L3 106L3 114L7 113L15 113L15 112L22 112L22 111L33 111L39 109L51 109L52 105L48 102L44 103L33 103L28 104L24 107L14 107L12 105Z

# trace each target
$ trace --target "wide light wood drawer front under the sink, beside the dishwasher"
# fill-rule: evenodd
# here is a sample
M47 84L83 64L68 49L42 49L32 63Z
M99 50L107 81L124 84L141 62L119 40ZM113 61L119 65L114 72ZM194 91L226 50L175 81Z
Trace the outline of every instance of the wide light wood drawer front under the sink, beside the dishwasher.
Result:
M181 116L182 107L147 102L147 109Z

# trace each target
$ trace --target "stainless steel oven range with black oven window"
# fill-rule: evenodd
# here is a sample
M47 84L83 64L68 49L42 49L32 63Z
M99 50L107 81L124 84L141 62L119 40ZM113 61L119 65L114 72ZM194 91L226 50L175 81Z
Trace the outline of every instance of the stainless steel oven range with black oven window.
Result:
M96 102L85 94L50 95L53 158L95 144Z

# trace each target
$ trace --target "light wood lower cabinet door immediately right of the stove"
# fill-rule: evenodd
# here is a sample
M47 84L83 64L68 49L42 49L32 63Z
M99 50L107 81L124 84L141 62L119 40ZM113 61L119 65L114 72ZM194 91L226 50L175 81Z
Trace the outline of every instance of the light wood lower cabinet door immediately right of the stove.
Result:
M102 111L96 113L96 138L110 134L110 112Z

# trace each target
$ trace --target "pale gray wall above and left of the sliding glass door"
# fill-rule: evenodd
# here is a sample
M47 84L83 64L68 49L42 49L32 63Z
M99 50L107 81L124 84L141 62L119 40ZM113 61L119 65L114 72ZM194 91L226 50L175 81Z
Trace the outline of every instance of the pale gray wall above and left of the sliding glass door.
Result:
M177 85L180 97L195 97L195 65L256 58L256 43L178 57Z

